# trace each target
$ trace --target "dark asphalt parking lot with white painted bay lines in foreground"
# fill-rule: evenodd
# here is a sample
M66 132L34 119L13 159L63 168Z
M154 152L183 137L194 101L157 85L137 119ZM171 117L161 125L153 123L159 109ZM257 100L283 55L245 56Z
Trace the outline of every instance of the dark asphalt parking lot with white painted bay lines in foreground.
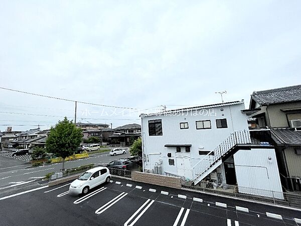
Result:
M301 218L299 211L119 178L86 196L71 196L68 188L69 183L46 185L0 198L0 225L298 225L294 217ZM218 206L215 199L227 206ZM238 211L237 205L249 211ZM281 213L282 219L268 217L268 211Z

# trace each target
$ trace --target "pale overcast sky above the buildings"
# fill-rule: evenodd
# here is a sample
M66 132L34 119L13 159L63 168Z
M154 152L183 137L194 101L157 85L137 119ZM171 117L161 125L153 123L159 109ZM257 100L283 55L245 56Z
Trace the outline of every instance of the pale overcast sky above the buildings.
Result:
M301 84L300 12L299 0L1 1L0 86L150 111L226 90L247 108L254 90ZM74 117L72 102L0 96L1 131ZM78 104L77 121L139 123L121 111Z

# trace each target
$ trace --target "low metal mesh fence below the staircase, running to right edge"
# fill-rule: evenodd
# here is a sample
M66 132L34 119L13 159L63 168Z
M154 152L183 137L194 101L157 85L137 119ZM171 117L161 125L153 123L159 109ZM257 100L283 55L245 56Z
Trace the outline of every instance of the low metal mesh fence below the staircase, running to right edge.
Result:
M248 188L229 184L217 185L207 181L201 181L198 183L198 186L192 186L191 183L192 182L182 181L182 187L206 193L301 208L301 195L295 193Z

